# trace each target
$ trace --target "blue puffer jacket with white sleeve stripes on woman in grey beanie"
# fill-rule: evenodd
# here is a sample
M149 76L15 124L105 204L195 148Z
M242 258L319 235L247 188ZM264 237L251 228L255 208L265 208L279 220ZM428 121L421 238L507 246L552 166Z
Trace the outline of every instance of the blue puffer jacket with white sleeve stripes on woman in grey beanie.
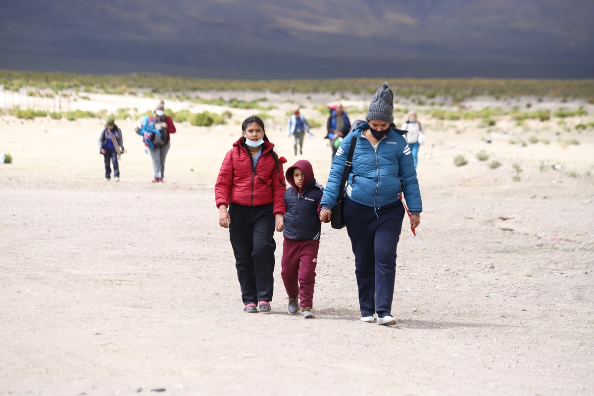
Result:
M404 185L404 197L409 210L418 215L423 211L421 191L415 163L405 138L390 128L375 151L371 142L362 137L362 132L368 128L368 123L362 123L343 139L332 161L321 204L329 208L336 205L350 142L356 136L353 167L346 187L349 198L359 204L378 208L398 201Z

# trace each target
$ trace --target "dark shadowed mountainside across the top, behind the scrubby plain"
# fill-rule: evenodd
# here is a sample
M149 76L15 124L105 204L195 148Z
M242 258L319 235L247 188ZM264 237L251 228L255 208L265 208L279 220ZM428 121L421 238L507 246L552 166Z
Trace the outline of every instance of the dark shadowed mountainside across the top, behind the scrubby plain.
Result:
M192 77L594 78L592 0L18 0L0 68Z

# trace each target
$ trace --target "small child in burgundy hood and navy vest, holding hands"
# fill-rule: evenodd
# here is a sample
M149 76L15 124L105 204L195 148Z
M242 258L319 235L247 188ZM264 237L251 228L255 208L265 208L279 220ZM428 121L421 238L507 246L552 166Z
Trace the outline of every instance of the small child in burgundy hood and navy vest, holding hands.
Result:
M302 318L311 319L322 227L320 200L324 188L315 182L314 170L307 160L289 167L286 180L291 187L285 191L285 240L280 276L289 296L287 312L296 315L301 309Z

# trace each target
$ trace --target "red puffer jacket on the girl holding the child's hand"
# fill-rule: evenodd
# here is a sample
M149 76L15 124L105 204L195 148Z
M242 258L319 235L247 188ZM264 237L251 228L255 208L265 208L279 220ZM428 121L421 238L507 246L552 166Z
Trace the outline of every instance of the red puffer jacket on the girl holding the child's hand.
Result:
M285 176L282 160L274 161L274 144L265 141L264 150L252 169L252 158L241 138L229 150L214 185L217 208L233 204L273 205L274 214L285 214ZM286 161L286 160L285 160Z

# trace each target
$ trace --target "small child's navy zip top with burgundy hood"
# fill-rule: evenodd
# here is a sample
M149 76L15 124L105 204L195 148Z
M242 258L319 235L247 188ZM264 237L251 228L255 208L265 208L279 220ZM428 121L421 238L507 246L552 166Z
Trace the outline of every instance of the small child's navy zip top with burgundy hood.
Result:
M303 172L302 189L295 185L293 172L301 169ZM285 191L285 230L283 235L287 239L319 240L322 223L320 221L320 200L324 188L315 182L314 170L307 160L299 160L289 167L286 180L291 185Z

